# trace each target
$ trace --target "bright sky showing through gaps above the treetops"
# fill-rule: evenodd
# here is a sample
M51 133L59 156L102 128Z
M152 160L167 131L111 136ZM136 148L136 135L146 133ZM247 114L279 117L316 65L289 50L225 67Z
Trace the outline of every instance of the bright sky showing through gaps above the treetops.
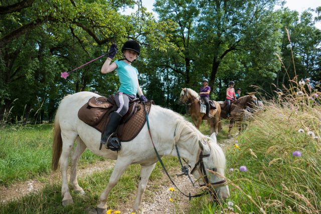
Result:
M142 0L142 5L147 9L147 11L152 12L155 17L157 14L152 11L154 0ZM308 8L315 9L321 6L321 0L287 0L284 7L289 8L290 10L297 11L302 13L303 11L307 10ZM276 7L278 8L278 7ZM126 10L125 13L132 13L133 10ZM314 13L314 16L316 14ZM318 22L315 25L318 29L321 29L321 23Z

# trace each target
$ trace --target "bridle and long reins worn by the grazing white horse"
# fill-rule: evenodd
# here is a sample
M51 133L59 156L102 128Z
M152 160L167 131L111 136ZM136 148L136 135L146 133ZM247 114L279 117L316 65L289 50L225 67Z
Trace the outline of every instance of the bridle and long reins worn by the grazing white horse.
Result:
M144 105L145 105L145 103L144 103ZM168 171L166 170L165 165L164 165L164 163L163 163L163 161L162 161L162 159L161 159L161 156L158 154L158 152L157 152L157 150L156 150L156 147L155 147L155 145L154 145L154 142L153 142L153 140L152 140L151 133L150 133L150 128L149 128L149 122L148 122L148 114L147 114L147 111L146 111L146 105L145 105L145 112L146 112L146 123L147 123L148 133L149 133L149 136L150 136L150 139L151 139L152 146L153 146L154 151L155 151L155 153L156 153L156 157L157 157L159 163L161 163L161 165L162 165L162 167L163 167L166 175L170 178L170 180L171 180L171 182L173 183L173 185L174 185L184 196L188 197L189 200L191 200L192 197L199 197L199 196L202 196L202 195L205 195L205 194L211 194L211 195L213 195L213 197L214 197L216 200L218 200L218 197L217 197L215 191L214 191L214 192L212 192L212 191L210 191L210 192L203 192L203 193L196 194L196 195L191 195L191 193L189 193L189 195L187 195L187 194L185 194L184 192L182 192L182 191L177 187L177 185L174 183L173 179L171 178L170 174L169 174ZM175 136L175 132L174 132L174 136ZM179 149L178 149L178 146L177 146L176 143L175 143L175 147L176 147L176 151L177 151L177 155L178 155L179 161L180 161L181 166L182 166L182 172L183 172L183 173L180 174L180 175L188 175L189 178L190 178L190 180L191 180L191 182L192 182L192 184L193 184L193 186L194 186L194 183L195 183L195 182L192 181L192 178L190 177L189 170L188 170L187 166L183 166L183 164L182 164L181 156L180 156ZM226 185L226 181L227 181L226 178L224 178L224 179L221 180L221 181L214 182L214 183L211 183L211 182L209 181L209 179L208 179L208 177L207 177L206 169L205 169L205 166L204 166L204 162L203 162L203 158L204 158L204 157L209 157L209 156L210 156L210 154L205 154L205 155L203 155L203 152L200 151L198 161L195 163L195 165L194 165L194 167L193 167L193 169L192 169L192 171L191 171L191 174L197 169L197 170L199 170L200 174L203 175L202 178L203 178L204 184L203 184L203 185L200 185L200 186L215 185L215 186L219 187L219 186L224 186L224 185ZM197 167L198 165L200 165L200 167ZM216 168L214 168L213 170L216 171ZM178 176L180 176L180 175L178 175Z

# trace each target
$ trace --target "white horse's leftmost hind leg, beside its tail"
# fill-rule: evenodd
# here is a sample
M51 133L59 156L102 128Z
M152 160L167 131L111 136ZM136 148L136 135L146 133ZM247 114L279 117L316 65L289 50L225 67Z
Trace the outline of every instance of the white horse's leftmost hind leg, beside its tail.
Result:
M62 152L60 156L60 171L61 171L61 179L62 179L62 187L61 187L61 195L62 205L72 204L73 200L69 192L68 187L68 177L67 177L67 169L68 169L68 159L70 153L72 151L72 147L76 140L77 135L75 133L62 133L61 134L63 145L62 145Z

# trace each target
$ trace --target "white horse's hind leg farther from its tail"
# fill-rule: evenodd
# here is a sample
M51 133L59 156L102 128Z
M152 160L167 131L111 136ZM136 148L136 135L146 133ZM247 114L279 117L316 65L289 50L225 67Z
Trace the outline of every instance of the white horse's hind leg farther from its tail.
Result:
M84 194L85 191L79 186L78 180L77 180L77 165L79 162L79 159L81 157L81 154L86 149L85 143L80 139L80 137L77 137L77 145L74 151L71 154L71 170L70 170L70 183L72 188L79 192L80 194Z

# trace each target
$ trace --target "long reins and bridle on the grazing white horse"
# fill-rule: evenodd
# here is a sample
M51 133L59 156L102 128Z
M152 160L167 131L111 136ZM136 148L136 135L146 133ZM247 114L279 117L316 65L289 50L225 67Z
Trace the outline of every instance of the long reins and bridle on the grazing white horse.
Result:
M174 185L184 196L188 197L189 200L191 200L193 197L200 197L200 196L206 195L206 194L212 194L212 195L214 194L214 195L216 196L215 191L214 191L214 192L209 192L209 191L208 191L208 192L205 192L205 191L204 191L204 192L202 192L202 193L200 193L200 194L195 194L195 195L191 195L191 193L189 193L189 194L187 195L187 194L185 194L184 192L182 192L182 191L177 187L177 185L175 184L175 182L174 182L173 179L171 178L170 174L168 173L168 171L167 171L167 169L166 169L166 167L165 167L165 165L164 165L164 162L163 162L161 156L158 154L157 149L156 149L156 147L155 147L155 144L154 144L154 142L153 142L153 140L152 140L151 133L150 133L149 121L148 121L148 113L147 113L147 110L146 110L146 105L145 105L145 103L143 103L143 104L144 104L144 106L145 106L146 123L147 123L148 133L149 133L149 137L150 137L150 139L151 139L151 143L152 143L152 146L153 146L153 148L154 148L156 157L157 157L159 163L161 163L161 165L162 165L162 167L163 167L166 175L170 178L170 180L171 180L171 182L173 183L173 185ZM178 157L179 157L179 161L180 161L180 164L181 164L181 166L182 166L182 172L183 172L182 174L179 174L178 176L188 175L188 177L190 178L193 186L195 186L195 185L194 185L194 182L192 181L192 178L191 178L191 176L190 176L190 174L189 174L189 169L188 169L187 165L183 166L183 163L182 163L182 161L181 161L181 156L180 156L180 153L179 153L179 149L178 149L178 146L177 146L176 143L175 143L175 147L176 147L176 151L177 151L177 154L178 154ZM201 151L201 152L200 152L200 155L199 155L199 160L198 160L197 163L195 164L195 166L194 166L194 168L192 169L191 173L192 173L193 171L195 171L197 165L200 164L200 166L201 166L201 174L203 174L203 172L204 172L204 174L205 174L205 175L203 174L204 177L205 177L205 180L206 180L206 182L205 182L204 185L207 185L207 184L218 185L218 184L223 184L223 183L225 183L225 182L226 182L226 179L225 179L225 178L224 178L224 180L221 180L221 181L218 181L218 182L215 182L215 183L210 183L210 182L209 182L209 180L208 180L208 178L207 178L207 174L206 174L206 169L205 169L205 166L204 166L204 163L203 163L203 157L209 157L209 156L210 156L210 154L203 155L203 152ZM201 186L204 186L204 185L201 185ZM217 198L217 197L216 197L216 198Z

